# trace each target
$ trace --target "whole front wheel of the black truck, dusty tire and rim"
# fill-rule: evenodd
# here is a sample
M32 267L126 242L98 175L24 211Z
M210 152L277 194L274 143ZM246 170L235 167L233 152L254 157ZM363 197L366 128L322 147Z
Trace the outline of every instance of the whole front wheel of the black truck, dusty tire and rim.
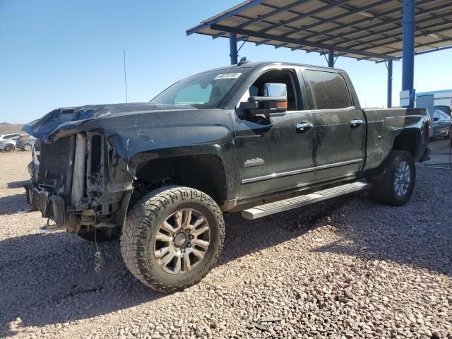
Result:
M146 194L130 210L121 254L142 283L174 292L198 283L213 268L224 239L225 222L210 196L167 186Z

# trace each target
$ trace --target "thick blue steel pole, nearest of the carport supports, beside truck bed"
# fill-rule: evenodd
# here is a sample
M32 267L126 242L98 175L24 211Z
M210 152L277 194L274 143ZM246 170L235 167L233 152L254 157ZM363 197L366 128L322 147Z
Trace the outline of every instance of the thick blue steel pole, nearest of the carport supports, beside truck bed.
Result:
M415 99L415 0L403 0L402 90L410 91L410 105Z

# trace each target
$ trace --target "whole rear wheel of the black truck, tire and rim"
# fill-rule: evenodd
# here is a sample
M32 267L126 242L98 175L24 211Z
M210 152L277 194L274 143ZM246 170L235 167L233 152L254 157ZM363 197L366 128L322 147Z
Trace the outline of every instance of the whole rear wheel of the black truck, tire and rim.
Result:
M416 165L411 153L393 150L386 160L383 180L372 182L374 201L391 206L403 206L415 189Z

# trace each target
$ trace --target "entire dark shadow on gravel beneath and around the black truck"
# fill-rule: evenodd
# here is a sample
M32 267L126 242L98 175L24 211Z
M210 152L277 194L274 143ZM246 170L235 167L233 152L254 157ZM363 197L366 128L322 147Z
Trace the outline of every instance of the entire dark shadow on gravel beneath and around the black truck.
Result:
M432 187L424 171L412 200L401 208L374 205L360 193L255 221L225 215L227 236L219 265L328 223L335 226L339 240L312 251L392 261L452 276L452 228L438 222L447 220L450 208L434 210L438 204L451 206L452 196L446 188ZM382 222L382 216L390 222ZM99 244L99 249L102 262L96 263L95 244L63 231L1 241L0 337L165 297L133 278L122 262L119 241ZM14 322L18 317L21 320Z

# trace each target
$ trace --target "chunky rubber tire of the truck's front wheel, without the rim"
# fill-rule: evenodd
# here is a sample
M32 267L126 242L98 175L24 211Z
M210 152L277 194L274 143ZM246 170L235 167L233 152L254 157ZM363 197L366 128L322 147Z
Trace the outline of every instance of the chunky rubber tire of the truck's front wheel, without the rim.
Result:
M169 215L182 208L200 211L210 226L210 245L188 272L167 273L153 254L155 233ZM207 194L184 186L165 186L145 194L129 211L121 234L121 254L131 273L148 287L175 292L198 283L217 263L225 239L225 222Z

